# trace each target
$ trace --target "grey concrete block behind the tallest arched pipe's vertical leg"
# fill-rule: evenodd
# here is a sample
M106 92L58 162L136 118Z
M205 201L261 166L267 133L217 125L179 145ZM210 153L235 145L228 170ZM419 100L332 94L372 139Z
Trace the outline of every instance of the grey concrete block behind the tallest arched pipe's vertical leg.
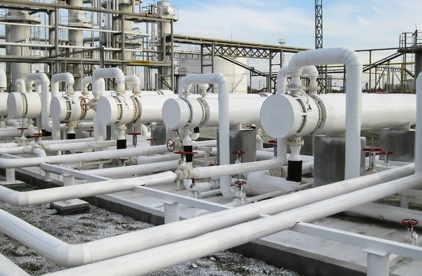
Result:
M366 147L366 139L361 137L361 148ZM314 137L314 187L345 180L344 137ZM365 171L365 152L361 152L361 176Z

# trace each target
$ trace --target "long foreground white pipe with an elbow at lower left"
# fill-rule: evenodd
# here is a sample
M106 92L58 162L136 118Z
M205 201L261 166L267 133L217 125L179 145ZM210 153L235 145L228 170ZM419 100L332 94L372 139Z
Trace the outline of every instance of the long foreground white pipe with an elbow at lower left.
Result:
M99 239L86 244L65 244L46 232L42 232L29 223L21 221L19 218L15 218L4 211L0 211L0 216L2 213L6 213L8 219L13 221L13 225L18 225L18 229L9 230L11 235L13 235L11 237L60 265L72 267L87 263L96 263L109 258L124 256L160 245L169 244L171 242L198 237L199 235L203 235L210 231L227 228L245 221L255 220L262 214L274 215L275 213L343 195L347 192L370 187L371 185L383 183L388 180L409 176L413 171L414 164L409 164L407 166L389 169L388 171L362 176L353 180L344 180L339 183L328 184L311 190L295 192L283 197L267 199L255 204L239 206L238 208L217 213L209 213L205 216L191 218L177 223L160 225L154 228L117 235L115 237ZM3 219L2 217L0 220L0 227L3 225L1 223L4 223L5 221L6 219ZM6 230L10 229L8 228L8 225L4 226L4 228ZM3 231L3 229L1 230ZM30 238L28 238L27 235L29 235ZM63 250L58 251L57 248L62 245L63 247L61 248ZM68 270L63 272L66 271Z

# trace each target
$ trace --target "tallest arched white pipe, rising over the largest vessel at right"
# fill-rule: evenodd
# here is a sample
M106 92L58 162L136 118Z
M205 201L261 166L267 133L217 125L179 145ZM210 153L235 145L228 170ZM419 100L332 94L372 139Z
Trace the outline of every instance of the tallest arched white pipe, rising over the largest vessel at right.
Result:
M362 60L348 48L308 50L293 55L288 63L292 70L290 85L300 86L302 67L306 65L343 64L346 67L346 161L345 179L360 176L361 113L362 113Z

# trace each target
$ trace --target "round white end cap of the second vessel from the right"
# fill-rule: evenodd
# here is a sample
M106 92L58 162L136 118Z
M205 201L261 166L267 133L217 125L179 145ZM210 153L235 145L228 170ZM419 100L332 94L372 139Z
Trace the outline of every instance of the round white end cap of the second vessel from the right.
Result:
M181 129L188 124L191 110L181 98L168 99L162 105L162 121L167 129Z

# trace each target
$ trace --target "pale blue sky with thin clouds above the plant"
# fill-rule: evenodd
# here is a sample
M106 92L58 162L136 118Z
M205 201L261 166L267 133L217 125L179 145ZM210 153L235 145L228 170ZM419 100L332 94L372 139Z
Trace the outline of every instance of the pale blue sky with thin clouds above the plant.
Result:
M143 5L152 2L144 1ZM279 39L286 39L286 46L314 48L314 0L175 0L170 3L179 10L179 21L174 24L177 34L262 44L278 44ZM422 18L416 11L422 11L422 0L324 0L324 48L397 47L399 34L414 32L416 26L422 30ZM391 53L373 52L372 59ZM363 62L369 63L369 55L361 55ZM250 62L268 71L266 61ZM364 75L364 81L368 79ZM255 78L255 83L258 81Z

